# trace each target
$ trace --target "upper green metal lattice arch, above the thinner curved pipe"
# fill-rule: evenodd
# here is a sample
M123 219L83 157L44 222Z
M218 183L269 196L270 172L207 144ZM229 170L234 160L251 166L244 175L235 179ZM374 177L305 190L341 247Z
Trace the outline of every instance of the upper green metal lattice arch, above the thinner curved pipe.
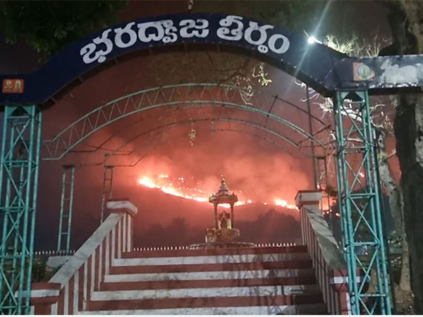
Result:
M94 110L90 111L89 113L86 113L85 116L82 116L81 118L79 118L78 120L75 120L73 123L71 123L71 125L68 125L67 128L65 128L64 130L62 130L61 132L59 132L58 135L56 135L56 137L54 137L53 139L48 139L48 140L44 140L42 143L44 145L44 147L47 149L47 153L49 154L49 157L44 158L44 161L53 161L53 160L59 160L62 159L63 156L65 156L68 151L70 151L71 149L73 149L73 147L76 147L78 144L80 144L80 142L82 142L84 139L86 139L87 137L89 137L90 135L94 134L95 132L97 132L98 130L104 128L106 125L109 125L111 123L114 123L118 120L121 120L122 118L126 118L128 116L131 116L135 113L140 113L142 111L148 111L148 110L152 110L152 109L156 109L156 108L161 108L161 107L165 107L165 106L178 106L180 104L190 104L193 108L192 105L194 104L207 104L207 106L226 106L228 108L239 108L245 111L250 111L253 113L260 113L264 116L266 116L267 118L272 118L280 123L283 123L284 125L286 125L288 128L293 129L295 132L298 132L300 135L302 135L303 137L306 137L307 139L312 139L314 142L316 142L317 144L319 144L321 147L325 147L324 144L322 144L318 139L316 139L313 135L310 135L308 132L306 132L305 130L303 130L302 128L298 127L298 125L295 125L294 123L291 123L289 120L283 119L279 116L276 116L272 113L269 113L267 111L263 111L261 109L258 108L254 108L251 106L246 106L245 104L236 104L234 102L231 102L231 100L233 99L233 97L235 97L235 94L233 94L232 99L230 99L229 101L216 101L216 100L199 100L199 99L193 99L193 100L184 100L184 101L167 101L164 103L160 103L160 104L156 104L155 101L157 101L157 99L159 98L159 93L161 92L161 97L165 97L164 93L163 93L163 89L173 89L172 94L171 94L171 98L173 98L173 94L175 89L178 88L185 88L188 87L188 89L190 89L191 87L202 87L202 94L204 94L204 92L206 91L207 88L209 87L216 87L219 89L218 92L225 92L224 89L237 89L238 92L245 90L245 89L240 89L239 87L234 87L231 85L219 85L219 84L197 84L197 83L188 83L188 84L181 84L181 85L168 85L168 86L163 86L163 87L155 87L152 89L143 89L139 92L134 92L132 94L128 94L125 95L123 97L120 97L118 99L114 99L113 101L109 101L108 103L99 106L97 108L95 108ZM154 95L154 101L151 101L151 99L148 96L149 92L156 92L156 94ZM212 92L213 93L213 92ZM227 97L228 92L226 92L226 97ZM138 102L138 104L135 104L135 101L133 100L133 97L139 96L141 95L141 99ZM188 94L187 94L188 95ZM147 97L145 97L147 96ZM178 97L181 97L180 94ZM219 94L216 94L216 97L219 97ZM124 106L119 106L119 102L120 101L124 101L126 99L125 105ZM142 101L144 101L144 99L148 99L148 104L149 106L143 106L142 105ZM132 102L132 106L134 108L134 110L132 111L128 111L125 112L128 108L128 104L129 101ZM291 105L290 105L291 106ZM121 107L124 107L123 109L121 109ZM106 108L110 108L109 113L104 112L104 109ZM117 109L115 111L115 109ZM116 113L118 113L118 115L114 115L114 111ZM95 118L92 118L95 117ZM94 123L92 122L92 120L90 120L90 118L92 118L92 120L94 120ZM314 117L314 119L316 119ZM319 120L319 119L317 119ZM321 123L321 120L319 120L319 122ZM81 125L80 127L78 127L78 125ZM80 130L78 130L78 128L80 128ZM76 138L75 138L76 136ZM49 147L49 144L53 144L53 149L51 149L51 147ZM60 151L59 146L63 145L64 150ZM61 153L58 155L58 152Z

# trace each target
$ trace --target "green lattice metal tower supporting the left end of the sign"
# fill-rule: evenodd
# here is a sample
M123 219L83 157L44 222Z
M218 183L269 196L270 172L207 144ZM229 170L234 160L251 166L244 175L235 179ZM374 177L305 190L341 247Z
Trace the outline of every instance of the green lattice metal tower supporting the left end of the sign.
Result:
M30 312L42 116L6 106L0 162L0 313Z

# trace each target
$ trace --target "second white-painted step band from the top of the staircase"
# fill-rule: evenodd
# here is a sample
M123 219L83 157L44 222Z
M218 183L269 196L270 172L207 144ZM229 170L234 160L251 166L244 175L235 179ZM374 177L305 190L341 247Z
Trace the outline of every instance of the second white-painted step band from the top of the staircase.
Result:
M273 268L263 270L236 270L233 271L190 271L190 272L166 272L166 273L132 273L111 274L104 276L104 282L148 282L163 280L231 280L249 278L291 278L291 277L314 277L314 271L308 268Z

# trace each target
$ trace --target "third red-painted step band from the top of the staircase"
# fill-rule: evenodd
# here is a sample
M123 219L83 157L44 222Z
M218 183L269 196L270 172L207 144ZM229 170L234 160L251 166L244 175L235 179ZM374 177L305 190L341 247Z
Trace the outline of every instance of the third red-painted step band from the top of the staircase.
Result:
M128 275L130 277L130 275ZM281 285L312 285L316 284L314 276L307 278L228 278L224 280L157 280L135 282L128 278L127 282L102 282L100 291L118 290L173 290L180 288L209 287L252 287Z

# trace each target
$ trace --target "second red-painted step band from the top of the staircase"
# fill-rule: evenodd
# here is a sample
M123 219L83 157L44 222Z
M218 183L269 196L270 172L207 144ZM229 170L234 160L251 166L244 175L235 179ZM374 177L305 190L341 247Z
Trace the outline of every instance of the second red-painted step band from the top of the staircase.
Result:
M137 274L137 273L183 273L183 272L209 272L209 271L259 271L276 269L312 268L311 260L301 261L273 261L250 263L209 263L209 264L180 264L180 265L154 265L154 266L112 266L111 274Z

